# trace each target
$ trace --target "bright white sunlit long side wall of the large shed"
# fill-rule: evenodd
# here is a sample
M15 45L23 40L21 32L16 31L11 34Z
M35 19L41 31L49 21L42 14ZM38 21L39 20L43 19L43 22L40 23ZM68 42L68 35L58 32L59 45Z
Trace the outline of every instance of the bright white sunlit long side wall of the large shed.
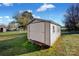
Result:
M54 26L55 32L53 32L53 26ZM58 32L58 28L60 30L60 26L57 26L55 24L50 24L50 45L51 46L55 43L57 38L60 36L60 31Z

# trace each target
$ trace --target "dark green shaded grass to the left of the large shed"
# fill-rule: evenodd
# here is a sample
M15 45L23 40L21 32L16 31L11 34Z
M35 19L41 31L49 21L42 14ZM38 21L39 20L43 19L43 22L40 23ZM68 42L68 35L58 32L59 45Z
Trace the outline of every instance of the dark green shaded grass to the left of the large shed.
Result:
M0 41L0 56L15 56L41 50L40 46L28 41L26 35Z

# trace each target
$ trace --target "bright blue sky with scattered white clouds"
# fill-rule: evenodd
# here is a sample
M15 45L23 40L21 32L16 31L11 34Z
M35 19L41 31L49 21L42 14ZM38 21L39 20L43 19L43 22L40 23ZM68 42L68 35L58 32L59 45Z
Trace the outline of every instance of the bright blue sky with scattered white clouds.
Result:
M32 12L35 18L53 20L56 23L63 25L64 14L71 4L66 3L1 3L0 4L0 24L8 24L13 21L14 16L18 11L27 10Z

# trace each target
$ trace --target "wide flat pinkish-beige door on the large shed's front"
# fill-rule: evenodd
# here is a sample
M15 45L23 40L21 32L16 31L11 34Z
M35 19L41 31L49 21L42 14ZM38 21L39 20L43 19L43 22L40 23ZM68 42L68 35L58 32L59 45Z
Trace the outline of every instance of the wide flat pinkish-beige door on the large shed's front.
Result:
M30 24L30 32L29 32L29 36L30 39L41 42L41 43L45 43L44 41L44 23L40 22L40 23L33 23Z

